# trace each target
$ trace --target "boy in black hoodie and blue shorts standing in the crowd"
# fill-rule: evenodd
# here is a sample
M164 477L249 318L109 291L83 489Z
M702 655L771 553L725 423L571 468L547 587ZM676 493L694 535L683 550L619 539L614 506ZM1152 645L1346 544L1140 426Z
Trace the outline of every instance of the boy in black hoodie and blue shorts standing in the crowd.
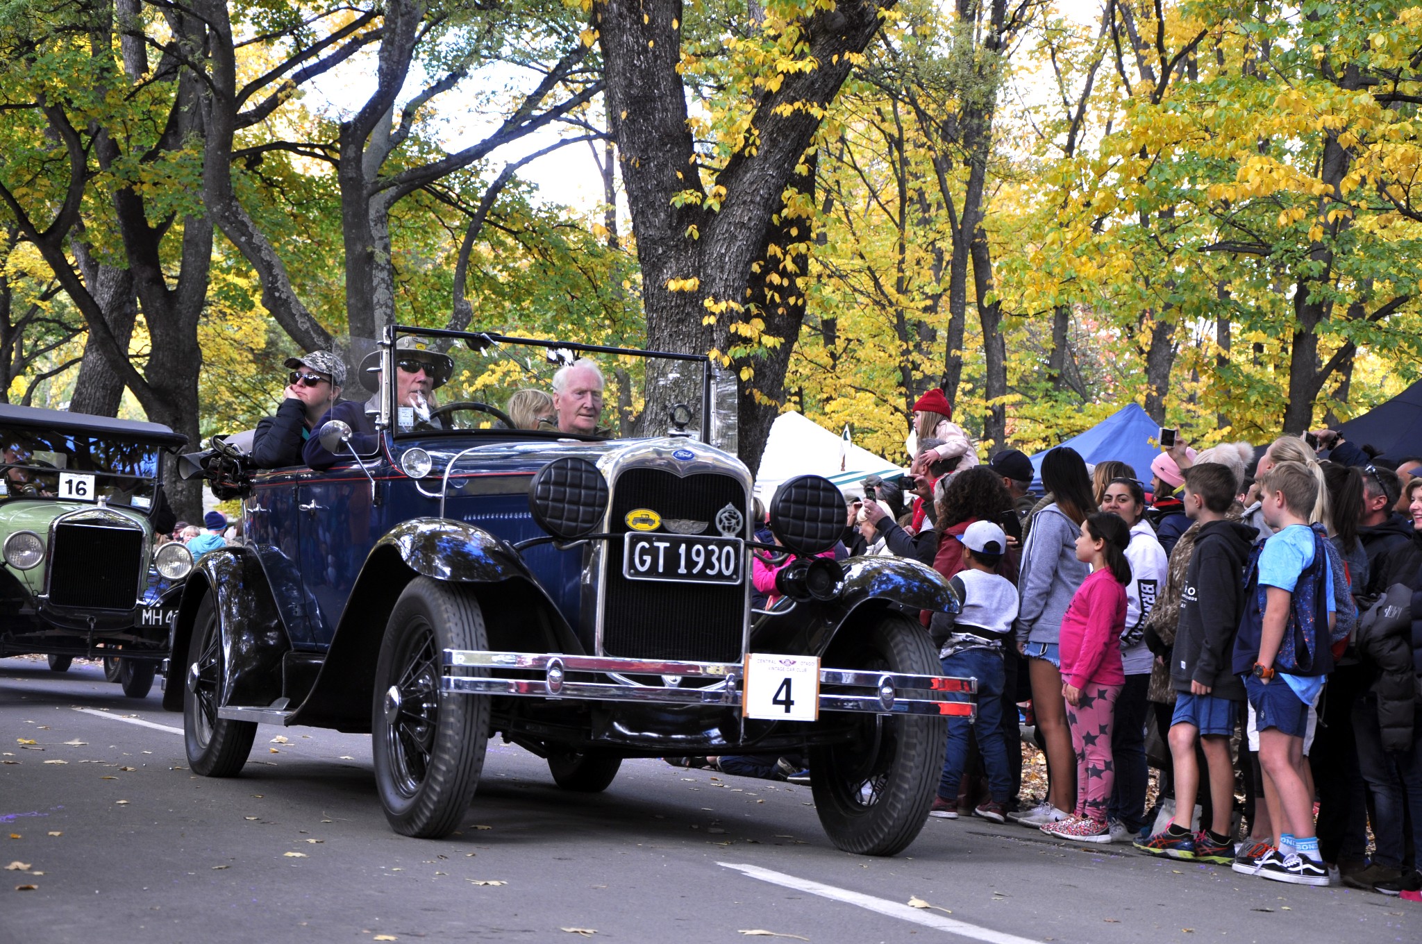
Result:
M1204 463L1185 471L1185 513L1200 527L1185 573L1170 657L1170 682L1176 691L1170 719L1175 819L1165 832L1135 843L1152 854L1224 866L1234 859L1230 736L1244 701L1244 684L1231 670L1231 654L1244 611L1244 563L1254 537L1253 527L1224 517L1234 492L1234 472L1226 465ZM1192 835L1190 816L1200 785L1196 741L1209 771L1212 822Z

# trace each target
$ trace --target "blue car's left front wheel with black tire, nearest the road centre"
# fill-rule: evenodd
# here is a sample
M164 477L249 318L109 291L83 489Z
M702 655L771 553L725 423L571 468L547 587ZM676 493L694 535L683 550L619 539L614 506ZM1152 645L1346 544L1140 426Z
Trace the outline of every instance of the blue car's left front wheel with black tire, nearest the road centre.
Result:
M442 694L444 650L486 648L474 591L415 577L400 594L375 663L371 748L391 829L448 836L474 800L489 741L489 695Z

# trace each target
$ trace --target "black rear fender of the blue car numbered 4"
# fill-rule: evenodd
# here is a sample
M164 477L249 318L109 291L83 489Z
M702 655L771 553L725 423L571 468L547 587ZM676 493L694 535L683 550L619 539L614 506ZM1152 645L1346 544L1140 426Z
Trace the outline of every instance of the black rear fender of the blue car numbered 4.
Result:
M292 644L262 562L246 547L223 547L203 554L183 581L182 603L173 618L164 708L182 709L188 644L198 610L209 594L222 633L223 704L272 704L282 695L282 657Z

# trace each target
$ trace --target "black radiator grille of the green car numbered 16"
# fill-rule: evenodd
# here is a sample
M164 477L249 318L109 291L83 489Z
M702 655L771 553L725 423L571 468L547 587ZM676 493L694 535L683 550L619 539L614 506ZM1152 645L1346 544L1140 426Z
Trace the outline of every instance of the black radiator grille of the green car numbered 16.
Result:
M50 603L132 610L142 556L144 532L137 527L57 525L50 553Z

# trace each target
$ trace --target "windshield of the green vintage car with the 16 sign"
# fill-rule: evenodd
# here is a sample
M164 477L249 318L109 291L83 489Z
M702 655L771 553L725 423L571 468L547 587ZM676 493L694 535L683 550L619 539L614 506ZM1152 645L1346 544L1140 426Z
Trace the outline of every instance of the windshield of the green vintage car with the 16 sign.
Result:
M0 499L63 498L149 510L158 446L87 434L0 428Z

